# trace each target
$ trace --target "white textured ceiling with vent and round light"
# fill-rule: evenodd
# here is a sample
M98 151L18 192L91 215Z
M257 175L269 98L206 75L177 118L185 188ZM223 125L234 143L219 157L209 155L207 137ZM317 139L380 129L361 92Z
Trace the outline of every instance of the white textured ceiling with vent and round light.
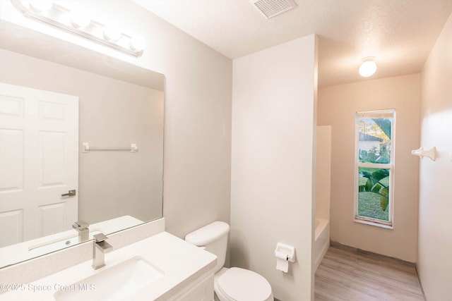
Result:
M315 33L319 85L364 80L366 56L378 64L369 79L419 72L452 12L452 0L295 1L270 19L248 0L135 2L231 59Z

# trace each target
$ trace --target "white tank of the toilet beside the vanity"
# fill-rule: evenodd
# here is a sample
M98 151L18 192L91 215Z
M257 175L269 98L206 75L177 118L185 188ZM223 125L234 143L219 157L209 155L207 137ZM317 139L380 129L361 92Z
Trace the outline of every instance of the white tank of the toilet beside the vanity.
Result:
M214 221L185 236L185 240L217 256L215 273L225 265L229 225L224 221Z

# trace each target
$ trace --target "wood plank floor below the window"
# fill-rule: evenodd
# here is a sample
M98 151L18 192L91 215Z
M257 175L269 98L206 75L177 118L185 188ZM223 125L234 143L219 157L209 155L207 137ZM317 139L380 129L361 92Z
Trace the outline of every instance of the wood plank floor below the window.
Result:
M316 271L315 301L424 300L415 266L398 259L330 247Z

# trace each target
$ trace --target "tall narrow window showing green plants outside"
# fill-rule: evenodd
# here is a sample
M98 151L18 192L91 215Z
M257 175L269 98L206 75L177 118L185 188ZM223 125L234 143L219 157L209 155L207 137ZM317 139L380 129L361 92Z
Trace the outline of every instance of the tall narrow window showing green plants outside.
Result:
M396 110L356 114L355 221L393 226Z

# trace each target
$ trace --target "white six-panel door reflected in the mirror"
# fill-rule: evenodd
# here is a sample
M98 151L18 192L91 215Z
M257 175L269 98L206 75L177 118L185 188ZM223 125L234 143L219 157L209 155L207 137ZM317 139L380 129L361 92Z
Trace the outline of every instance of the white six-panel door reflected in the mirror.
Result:
M78 219L78 97L0 83L0 247Z

